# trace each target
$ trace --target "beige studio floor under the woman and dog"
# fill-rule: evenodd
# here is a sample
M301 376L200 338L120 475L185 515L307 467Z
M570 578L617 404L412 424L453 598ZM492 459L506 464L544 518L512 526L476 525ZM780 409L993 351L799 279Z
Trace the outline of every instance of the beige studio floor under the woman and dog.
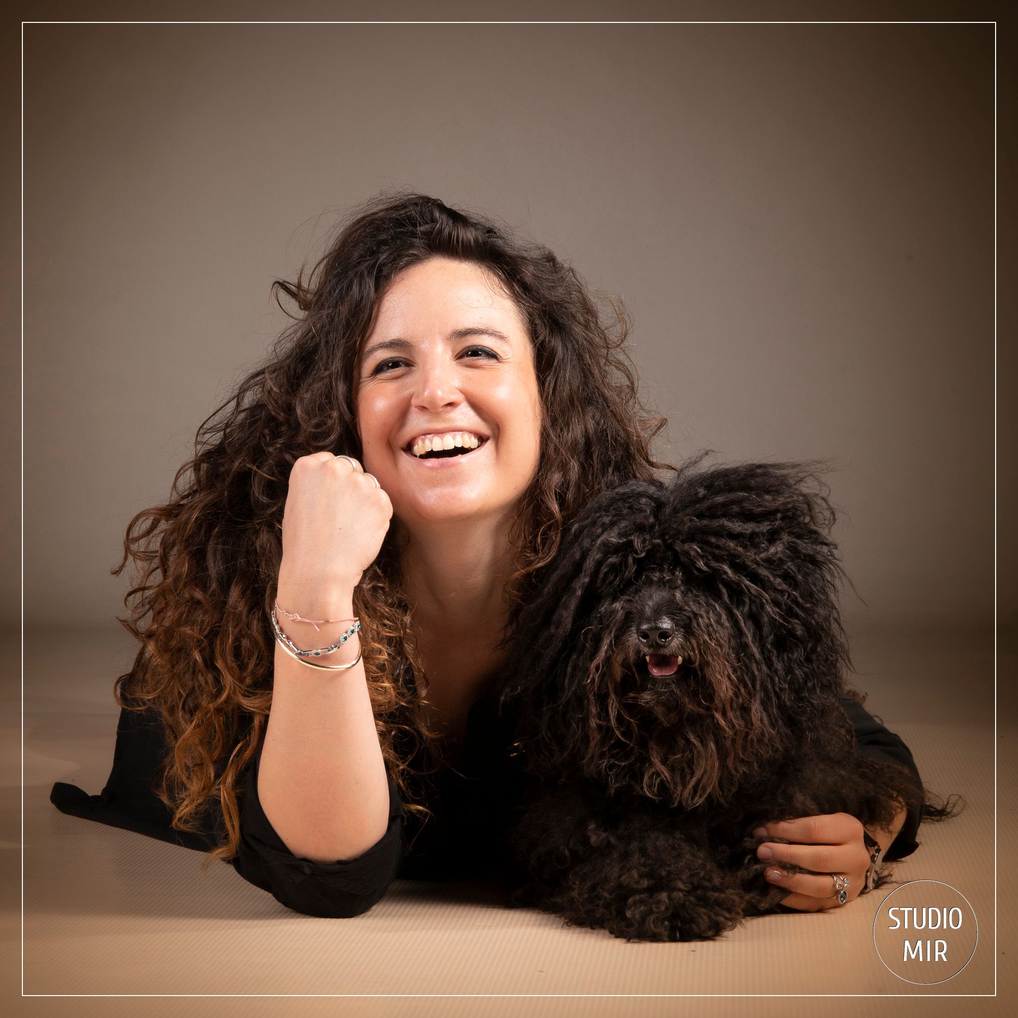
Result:
M747 1005L756 1014L823 1008L898 1015L921 1008L928 1015L948 1007L955 1013L962 1003L965 1014L996 1010L1007 987L1014 989L1007 946L1014 922L1005 903L1013 906L1016 883L1008 852L999 871L998 917L995 824L1002 852L1016 834L1018 657L1001 644L995 745L992 633L852 635L854 683L869 692L867 708L905 739L929 788L958 792L967 802L958 818L924 825L919 849L896 867L899 881L929 879L958 889L979 923L966 968L920 986L892 974L873 948L874 914L893 886L838 911L753 919L715 942L627 944L540 912L504 909L484 884L400 881L364 915L319 919L289 911L225 863L202 879L199 853L64 815L49 802L54 781L92 794L106 782L118 714L112 684L132 658L119 626L25 633L22 919L21 647L19 634L8 634L2 646L5 983L16 986L23 974L18 1013L32 1014L133 1014L140 1003L51 995L250 995L186 1005L154 998L145 1002L152 1014L178 1014L181 1006L212 1013L214 1005L216 1014L242 1008L250 1015L296 1003L262 995L362 995L300 1002L300 1012L355 1015L678 1014L691 1003L686 995L706 995L695 1002L703 1014ZM953 996L993 995L995 967L996 1000ZM901 996L882 1002L869 995ZM944 995L953 999L928 1000Z

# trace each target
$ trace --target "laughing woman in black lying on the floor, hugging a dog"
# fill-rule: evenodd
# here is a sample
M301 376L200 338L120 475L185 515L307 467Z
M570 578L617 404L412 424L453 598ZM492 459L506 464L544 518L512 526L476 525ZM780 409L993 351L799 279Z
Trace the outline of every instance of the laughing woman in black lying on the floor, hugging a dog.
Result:
M114 571L145 569L124 622L142 646L113 774L52 798L211 849L298 911L355 915L397 875L500 864L500 640L585 500L674 468L649 453L666 422L636 396L625 317L613 303L606 326L546 248L411 192L369 203L302 275L277 282L294 324L203 425L190 479L128 527ZM915 803L878 834L908 854L911 754L846 710L913 774ZM861 890L853 817L769 832L793 842L762 847L776 868ZM774 879L792 908L835 904L829 876Z

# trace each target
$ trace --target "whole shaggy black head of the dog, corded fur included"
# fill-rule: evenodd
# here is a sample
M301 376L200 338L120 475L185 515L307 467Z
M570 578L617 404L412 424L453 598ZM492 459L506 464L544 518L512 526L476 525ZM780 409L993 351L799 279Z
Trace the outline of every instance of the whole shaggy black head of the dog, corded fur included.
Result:
M503 703L533 769L693 806L808 729L847 652L823 504L800 480L687 469L590 503L511 643Z

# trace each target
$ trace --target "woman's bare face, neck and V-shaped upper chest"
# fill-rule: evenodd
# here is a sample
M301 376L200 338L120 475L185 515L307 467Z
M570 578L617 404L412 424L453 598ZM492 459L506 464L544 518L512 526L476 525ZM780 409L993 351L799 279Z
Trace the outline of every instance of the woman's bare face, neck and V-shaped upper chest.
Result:
M355 397L363 465L392 499L432 720L457 745L500 661L517 554L508 530L541 458L533 344L490 270L436 257L394 280L365 345Z

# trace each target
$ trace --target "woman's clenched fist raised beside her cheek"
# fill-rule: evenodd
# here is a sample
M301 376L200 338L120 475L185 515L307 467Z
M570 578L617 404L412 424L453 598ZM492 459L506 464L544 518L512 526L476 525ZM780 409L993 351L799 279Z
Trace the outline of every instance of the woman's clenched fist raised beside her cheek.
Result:
M352 456L301 456L290 468L283 510L279 589L299 592L304 605L348 599L391 519L389 496Z

